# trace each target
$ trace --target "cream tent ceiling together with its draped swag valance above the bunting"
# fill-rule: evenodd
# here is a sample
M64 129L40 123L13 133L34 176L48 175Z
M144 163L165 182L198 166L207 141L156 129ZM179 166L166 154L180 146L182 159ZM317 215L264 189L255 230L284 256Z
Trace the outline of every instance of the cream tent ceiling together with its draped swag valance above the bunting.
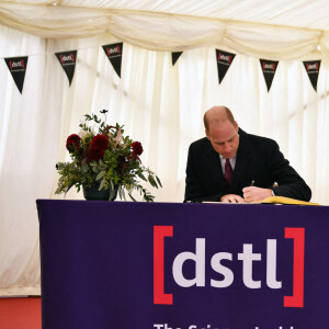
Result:
M270 59L329 56L328 12L320 0L0 1L2 25L42 37L105 33L152 50L215 45Z

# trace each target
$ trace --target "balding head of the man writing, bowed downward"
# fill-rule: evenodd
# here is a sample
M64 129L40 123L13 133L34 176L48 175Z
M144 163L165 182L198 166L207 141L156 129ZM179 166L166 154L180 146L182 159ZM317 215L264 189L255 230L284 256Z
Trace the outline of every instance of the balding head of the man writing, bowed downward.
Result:
M235 157L239 147L239 127L231 112L225 106L214 106L204 114L203 121L215 151L228 159Z

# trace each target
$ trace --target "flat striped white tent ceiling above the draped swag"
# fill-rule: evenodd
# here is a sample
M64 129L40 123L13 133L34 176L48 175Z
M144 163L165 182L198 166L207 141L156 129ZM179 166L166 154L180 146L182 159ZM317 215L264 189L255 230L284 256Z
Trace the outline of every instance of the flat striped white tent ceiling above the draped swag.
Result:
M5 2L5 1L1 1ZM132 10L329 31L326 0L39 0L12 3L80 9Z

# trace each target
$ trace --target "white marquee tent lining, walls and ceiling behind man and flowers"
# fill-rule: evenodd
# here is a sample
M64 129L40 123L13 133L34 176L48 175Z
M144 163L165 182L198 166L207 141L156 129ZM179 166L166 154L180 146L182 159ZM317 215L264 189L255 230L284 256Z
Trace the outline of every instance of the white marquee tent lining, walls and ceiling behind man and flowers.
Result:
M55 163L87 113L140 140L160 177L156 201L181 202L202 116L229 106L247 132L274 138L329 203L329 2L0 1L0 295L39 293L36 198L54 194ZM117 77L102 45L124 43ZM78 50L71 86L56 56ZM215 49L236 54L218 83ZM183 52L172 66L171 53ZM29 56L22 94L3 58ZM259 59L279 60L268 91ZM321 60L317 91L304 60ZM69 192L67 198L82 198Z

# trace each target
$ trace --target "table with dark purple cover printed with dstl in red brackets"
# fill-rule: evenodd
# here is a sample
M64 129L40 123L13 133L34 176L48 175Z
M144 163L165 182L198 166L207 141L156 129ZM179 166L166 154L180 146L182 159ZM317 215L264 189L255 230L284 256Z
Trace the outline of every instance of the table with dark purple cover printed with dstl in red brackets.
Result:
M327 329L329 207L37 200L44 329Z

